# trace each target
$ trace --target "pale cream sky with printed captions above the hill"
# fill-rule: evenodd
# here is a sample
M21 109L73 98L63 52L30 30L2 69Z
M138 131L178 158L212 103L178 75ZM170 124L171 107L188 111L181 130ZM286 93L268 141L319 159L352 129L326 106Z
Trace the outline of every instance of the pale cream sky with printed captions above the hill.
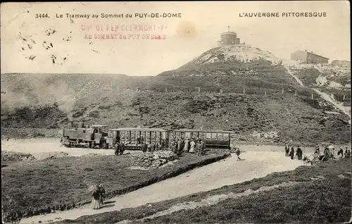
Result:
M289 59L291 52L307 49L330 61L351 61L349 7L348 1L5 3L1 4L1 73L158 75L215 47L228 26L241 42L279 58ZM327 16L281 16L288 12ZM35 18L36 13L47 13L49 18ZM66 13L90 17L71 20ZM101 18L101 13L124 17L130 13L132 18ZM135 13L180 13L181 18L136 18ZM280 16L249 18L240 13ZM152 25L156 30L121 30L130 25ZM103 34L165 35L165 39L94 39ZM86 35L92 39L84 39Z

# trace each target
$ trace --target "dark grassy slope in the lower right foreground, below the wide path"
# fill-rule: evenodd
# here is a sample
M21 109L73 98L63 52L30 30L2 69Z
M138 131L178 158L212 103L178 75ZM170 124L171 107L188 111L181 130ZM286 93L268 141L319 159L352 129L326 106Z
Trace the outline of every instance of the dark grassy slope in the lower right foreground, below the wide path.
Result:
M227 199L214 206L190 211L177 211L146 223L327 223L325 209L337 209L339 216L334 222L346 222L351 218L351 159L341 159L318 166L301 166L296 170L272 173L265 178L253 179L237 185L221 187L210 192L199 192L185 197L139 206L135 209L82 216L76 220L56 223L116 223L121 220L137 220L167 210L175 204L201 201L210 195L256 190L262 186L296 181L302 185L282 187L269 192L259 192L248 197ZM346 179L338 178L344 174ZM318 175L320 180L311 180Z

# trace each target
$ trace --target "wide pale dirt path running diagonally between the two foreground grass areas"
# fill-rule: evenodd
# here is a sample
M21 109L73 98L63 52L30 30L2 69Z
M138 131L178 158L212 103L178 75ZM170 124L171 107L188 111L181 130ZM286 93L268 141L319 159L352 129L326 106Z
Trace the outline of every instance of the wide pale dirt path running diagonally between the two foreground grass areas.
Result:
M170 178L162 182L143 187L137 191L115 197L111 204L99 210L90 209L90 205L79 209L51 213L44 216L34 216L22 220L20 223L48 223L48 220L75 219L107 211L119 211L134 208L157 201L175 199L187 194L204 192L224 185L262 178L272 172L293 170L303 165L302 161L291 161L284 154L273 151L245 151L241 154L244 161L237 161L236 156L226 158L217 163L203 166L190 172Z

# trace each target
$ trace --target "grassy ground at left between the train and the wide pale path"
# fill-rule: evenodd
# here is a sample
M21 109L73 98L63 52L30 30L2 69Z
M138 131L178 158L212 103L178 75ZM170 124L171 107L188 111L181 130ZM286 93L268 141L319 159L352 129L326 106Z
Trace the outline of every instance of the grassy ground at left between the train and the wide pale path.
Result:
M96 182L111 192L220 154L223 153L212 152L201 157L187 154L180 161L156 170L125 169L131 166L131 155L19 162L2 169L2 206L6 212L82 201L89 199L87 187Z

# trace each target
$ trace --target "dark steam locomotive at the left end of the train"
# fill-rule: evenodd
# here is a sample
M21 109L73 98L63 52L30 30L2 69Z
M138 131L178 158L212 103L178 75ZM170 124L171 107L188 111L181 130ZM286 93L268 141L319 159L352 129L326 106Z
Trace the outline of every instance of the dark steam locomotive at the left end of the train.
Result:
M89 147L108 149L112 147L113 137L108 136L106 125L87 125L78 123L78 127L63 130L62 144L65 147Z

